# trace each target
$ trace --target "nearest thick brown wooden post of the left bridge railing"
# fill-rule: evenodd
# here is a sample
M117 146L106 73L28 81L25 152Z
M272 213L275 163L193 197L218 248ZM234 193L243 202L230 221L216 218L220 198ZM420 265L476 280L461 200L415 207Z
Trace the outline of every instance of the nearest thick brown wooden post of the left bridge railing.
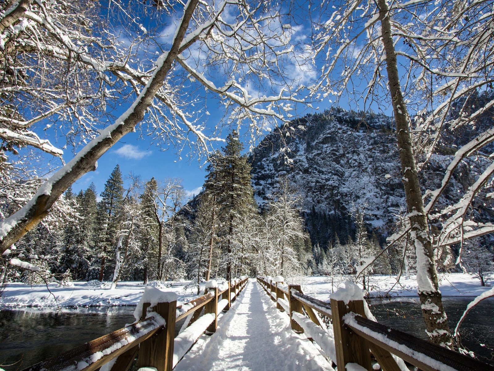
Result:
M177 298L174 293L174 300L165 303L158 303L153 311L165 320L165 328L158 331L149 339L144 340L139 346L139 358L137 368L155 367L158 371L171 371L173 368L173 340L175 338L175 318L177 310ZM142 318L146 318L146 311L149 303L142 306Z

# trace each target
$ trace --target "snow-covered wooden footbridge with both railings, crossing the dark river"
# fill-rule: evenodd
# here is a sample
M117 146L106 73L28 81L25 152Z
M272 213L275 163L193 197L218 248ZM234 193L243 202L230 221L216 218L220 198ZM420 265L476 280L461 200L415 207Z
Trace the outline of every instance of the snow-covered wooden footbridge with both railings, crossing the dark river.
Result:
M304 295L299 285L269 277L224 285L210 281L205 295L178 307L174 293L156 288L146 289L141 301L141 321L25 371L126 371L136 358L143 371L334 370L336 365L371 371L379 370L376 363L383 371L407 371L403 360L423 371L494 371L375 322L363 300L328 304Z

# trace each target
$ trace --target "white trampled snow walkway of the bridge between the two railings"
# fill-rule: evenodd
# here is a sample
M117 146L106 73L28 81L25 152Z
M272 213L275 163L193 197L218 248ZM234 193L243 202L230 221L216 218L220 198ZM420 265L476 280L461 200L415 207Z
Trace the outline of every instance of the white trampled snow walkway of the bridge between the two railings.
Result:
M332 370L318 349L290 329L260 285L247 287L218 323L203 335L175 367L188 370Z

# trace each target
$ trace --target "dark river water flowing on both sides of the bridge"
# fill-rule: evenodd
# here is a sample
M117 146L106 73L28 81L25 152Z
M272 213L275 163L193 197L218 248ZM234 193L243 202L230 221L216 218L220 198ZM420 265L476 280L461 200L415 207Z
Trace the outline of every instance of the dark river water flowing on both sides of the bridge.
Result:
M452 329L472 299L443 298ZM425 338L418 298L371 299L370 308L380 323ZM63 313L1 310L0 367L5 371L20 370L122 328L134 321L133 311L134 307L87 308ZM494 365L493 314L494 300L485 300L469 313L460 333L463 347ZM177 327L178 330L180 324Z

